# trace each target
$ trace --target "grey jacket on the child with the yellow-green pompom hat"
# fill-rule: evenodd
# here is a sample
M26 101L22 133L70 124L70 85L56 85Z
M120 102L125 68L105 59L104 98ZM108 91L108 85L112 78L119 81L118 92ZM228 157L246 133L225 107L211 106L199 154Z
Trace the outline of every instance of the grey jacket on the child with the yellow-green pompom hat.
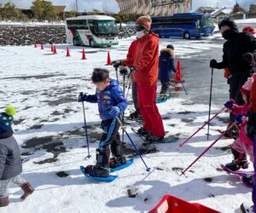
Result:
M0 180L18 176L21 171L20 148L15 137L0 139Z

